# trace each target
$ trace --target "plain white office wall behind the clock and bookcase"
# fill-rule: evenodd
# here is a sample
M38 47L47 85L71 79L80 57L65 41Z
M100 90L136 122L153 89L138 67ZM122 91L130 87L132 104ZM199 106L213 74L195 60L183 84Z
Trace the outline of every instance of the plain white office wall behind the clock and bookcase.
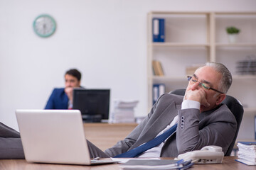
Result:
M73 67L83 86L137 99L146 115L146 13L255 10L255 0L0 0L0 121L18 129L15 109L44 108ZM33 32L42 13L57 23L50 38Z

